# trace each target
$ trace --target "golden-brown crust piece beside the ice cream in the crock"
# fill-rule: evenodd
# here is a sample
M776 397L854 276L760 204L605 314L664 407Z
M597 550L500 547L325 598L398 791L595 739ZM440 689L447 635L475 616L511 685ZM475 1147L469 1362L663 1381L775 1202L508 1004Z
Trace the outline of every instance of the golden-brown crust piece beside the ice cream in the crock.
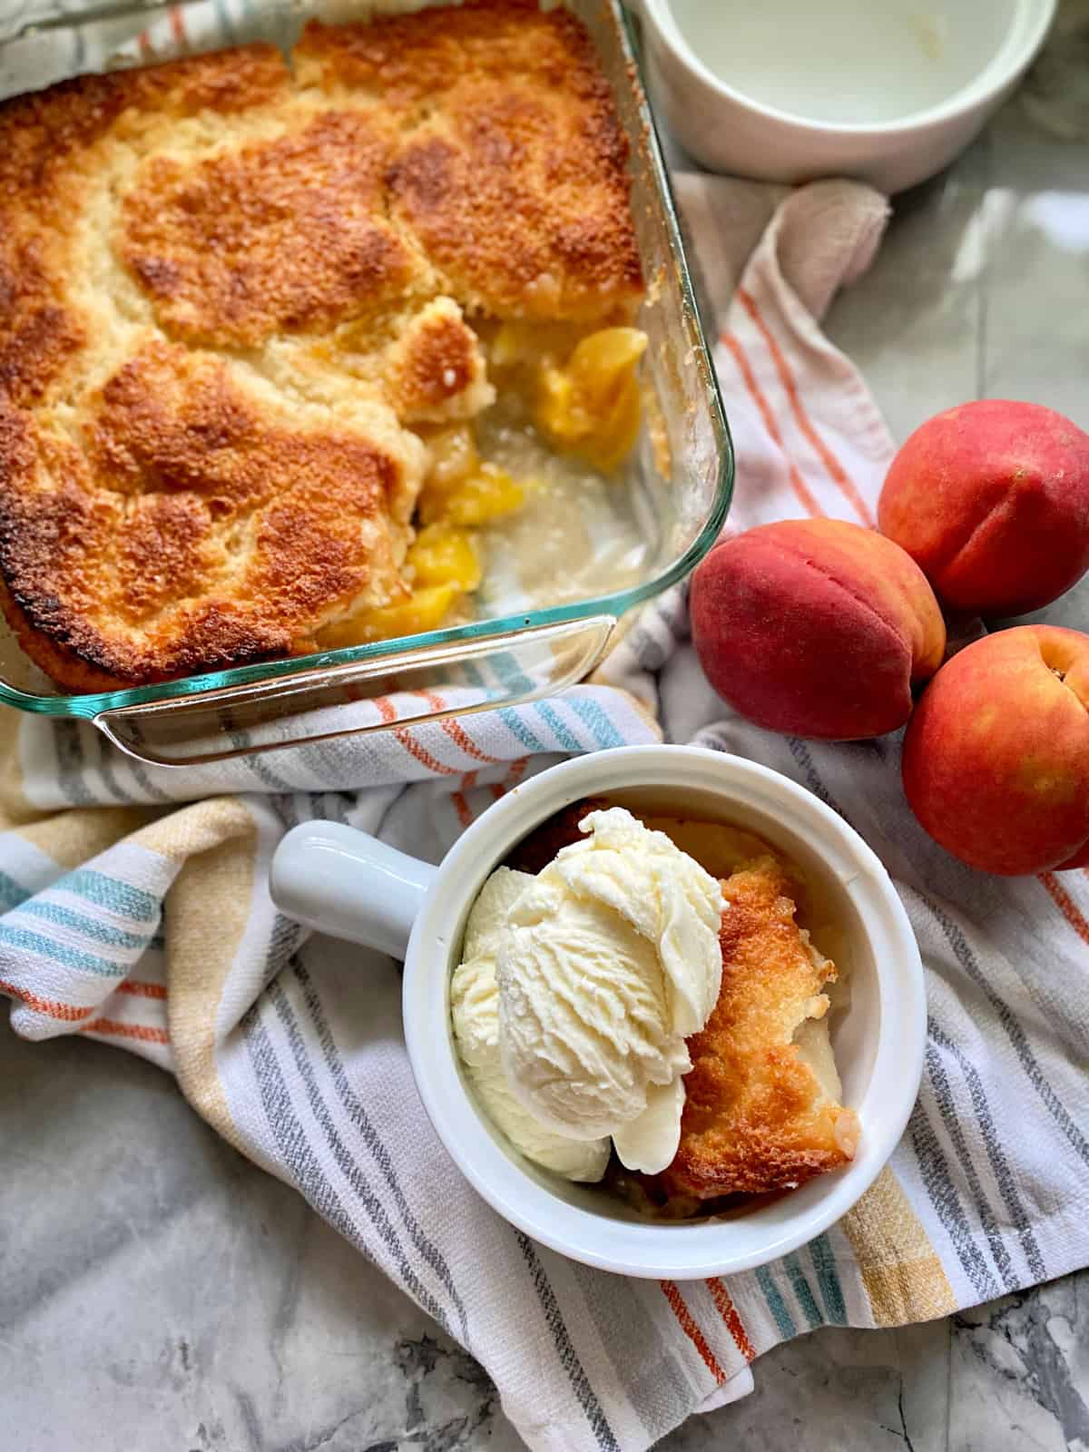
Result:
M658 1178L668 1196L790 1189L848 1160L835 1125L851 1111L825 1098L790 1041L803 1005L835 973L806 953L793 890L771 857L723 883L722 992L688 1040L681 1144Z

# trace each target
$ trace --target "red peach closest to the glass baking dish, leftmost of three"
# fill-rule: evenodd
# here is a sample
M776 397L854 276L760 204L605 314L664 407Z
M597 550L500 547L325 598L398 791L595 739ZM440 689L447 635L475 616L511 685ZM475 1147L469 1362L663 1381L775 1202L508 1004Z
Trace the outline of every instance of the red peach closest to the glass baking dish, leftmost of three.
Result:
M825 741L903 726L941 665L926 578L874 530L781 520L723 540L693 576L693 640L714 690L770 730Z

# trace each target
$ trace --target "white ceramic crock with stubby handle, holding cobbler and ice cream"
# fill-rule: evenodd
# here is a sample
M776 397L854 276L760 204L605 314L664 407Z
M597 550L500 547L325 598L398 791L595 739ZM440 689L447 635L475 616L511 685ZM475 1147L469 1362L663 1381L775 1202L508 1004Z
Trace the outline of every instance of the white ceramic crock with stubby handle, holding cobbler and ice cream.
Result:
M862 1124L847 1169L732 1218L653 1224L600 1189L539 1170L478 1109L459 1069L449 1012L469 908L521 838L590 794L754 831L788 852L833 908L851 1002L832 1025L832 1041L845 1102ZM272 894L289 916L404 955L405 1041L439 1137L501 1215L587 1265L690 1279L786 1255L854 1205L892 1154L915 1104L925 1044L922 966L887 873L817 797L739 756L697 746L624 746L574 758L491 806L439 868L351 828L311 822L280 844Z

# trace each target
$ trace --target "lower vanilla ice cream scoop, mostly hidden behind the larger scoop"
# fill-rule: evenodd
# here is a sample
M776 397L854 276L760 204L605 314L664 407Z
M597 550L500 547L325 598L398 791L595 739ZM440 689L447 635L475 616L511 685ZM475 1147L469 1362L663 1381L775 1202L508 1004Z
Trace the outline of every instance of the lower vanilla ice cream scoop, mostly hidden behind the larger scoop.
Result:
M571 1180L600 1180L608 1165L608 1140L556 1134L514 1098L499 1054L499 990L495 953L507 913L534 878L501 867L492 873L469 913L463 963L450 983L450 1016L462 1063L492 1124L521 1153Z

